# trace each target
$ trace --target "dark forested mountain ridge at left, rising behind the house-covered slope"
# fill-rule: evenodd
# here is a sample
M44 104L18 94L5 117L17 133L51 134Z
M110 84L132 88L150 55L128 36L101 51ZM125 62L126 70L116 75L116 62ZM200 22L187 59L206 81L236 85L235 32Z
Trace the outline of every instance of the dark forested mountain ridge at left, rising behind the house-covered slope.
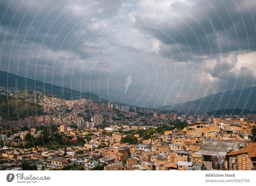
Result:
M8 75L9 74L9 75ZM15 74L7 73L5 71L0 71L0 86L7 86L7 75L8 75L8 88L10 87L15 87L15 78L18 78L18 88L24 90L25 88L25 78L17 76ZM64 96L61 96L61 87L52 85L50 83L44 83L42 81L37 81L37 80L32 80L32 79L27 79L27 89L33 89L37 91L44 91L47 94L50 94L55 97L60 97L63 99L71 100L72 97L73 99L90 99L95 102L99 102L99 97L96 94L86 92L86 93L81 93L76 90L72 90L72 96L71 96L71 89L65 88L65 94ZM107 103L107 100L103 100L103 102Z

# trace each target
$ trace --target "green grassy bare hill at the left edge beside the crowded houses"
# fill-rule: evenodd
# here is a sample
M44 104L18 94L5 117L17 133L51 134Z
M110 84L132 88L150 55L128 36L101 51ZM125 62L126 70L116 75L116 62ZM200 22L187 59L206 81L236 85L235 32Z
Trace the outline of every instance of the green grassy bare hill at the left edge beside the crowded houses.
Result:
M26 101L20 99L16 100L13 97L8 98L9 106L7 102L7 96L0 95L0 116L3 119L9 119L10 116L10 120L18 120L19 118L21 119L27 116L35 116L42 114L43 109L38 105L36 106L35 104L29 102L26 103Z

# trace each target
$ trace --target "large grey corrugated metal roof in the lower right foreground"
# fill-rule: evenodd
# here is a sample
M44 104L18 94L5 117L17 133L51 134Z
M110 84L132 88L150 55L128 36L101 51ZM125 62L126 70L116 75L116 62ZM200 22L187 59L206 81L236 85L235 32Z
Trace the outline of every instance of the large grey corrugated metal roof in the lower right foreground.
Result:
M196 154L226 156L231 150L238 150L238 144L236 141L207 140Z

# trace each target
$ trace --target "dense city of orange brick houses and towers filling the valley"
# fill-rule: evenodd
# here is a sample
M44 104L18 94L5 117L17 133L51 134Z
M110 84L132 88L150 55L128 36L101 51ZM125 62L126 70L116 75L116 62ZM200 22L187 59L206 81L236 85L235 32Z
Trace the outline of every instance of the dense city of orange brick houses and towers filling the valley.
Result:
M3 88L0 96L9 92L16 114L21 100L42 114L1 117L1 170L256 168L256 114L212 117Z

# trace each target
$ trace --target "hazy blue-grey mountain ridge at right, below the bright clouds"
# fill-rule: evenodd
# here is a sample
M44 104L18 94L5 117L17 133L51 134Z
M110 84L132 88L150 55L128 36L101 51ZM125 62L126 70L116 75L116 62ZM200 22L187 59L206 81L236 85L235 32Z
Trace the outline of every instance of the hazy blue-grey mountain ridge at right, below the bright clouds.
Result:
M233 93L232 93L233 92ZM251 93L251 94L250 94ZM241 94L241 95L240 95ZM249 97L249 101L248 100ZM256 100L256 87L253 89L246 88L246 89L236 89L235 91L227 90L223 92L219 92L217 94L209 95L206 97L202 97L196 99L195 101L188 101L184 103L179 103L175 105L166 105L158 107L163 108L165 110L180 110L180 111L197 111L198 112L211 112L215 110L224 110L224 109L246 109L249 111L256 110L256 104L254 104ZM199 106L200 105L200 106ZM237 110L236 110L237 112Z

